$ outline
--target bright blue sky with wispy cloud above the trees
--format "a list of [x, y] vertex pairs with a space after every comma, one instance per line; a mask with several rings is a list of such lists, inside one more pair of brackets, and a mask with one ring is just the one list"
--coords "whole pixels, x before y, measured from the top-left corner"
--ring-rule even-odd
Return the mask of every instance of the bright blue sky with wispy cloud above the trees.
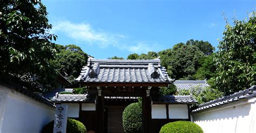
[[255, 0], [82, 1], [43, 0], [58, 35], [55, 43], [80, 46], [95, 58], [147, 53], [187, 40], [218, 46], [226, 17], [248, 17]]

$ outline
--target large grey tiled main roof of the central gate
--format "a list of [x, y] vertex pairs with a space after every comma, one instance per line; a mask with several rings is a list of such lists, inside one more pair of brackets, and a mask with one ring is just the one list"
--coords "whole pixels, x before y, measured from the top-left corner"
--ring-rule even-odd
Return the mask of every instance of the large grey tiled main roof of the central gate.
[[159, 59], [97, 60], [89, 58], [77, 82], [84, 83], [172, 83]]

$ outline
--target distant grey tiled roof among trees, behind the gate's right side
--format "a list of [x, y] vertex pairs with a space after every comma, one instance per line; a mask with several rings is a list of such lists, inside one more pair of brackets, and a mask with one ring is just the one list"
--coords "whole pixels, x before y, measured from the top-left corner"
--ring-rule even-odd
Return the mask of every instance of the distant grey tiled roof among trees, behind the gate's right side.
[[194, 87], [203, 88], [205, 86], [210, 86], [207, 84], [206, 80], [176, 80], [173, 84], [176, 85], [178, 89], [182, 90], [189, 90]]

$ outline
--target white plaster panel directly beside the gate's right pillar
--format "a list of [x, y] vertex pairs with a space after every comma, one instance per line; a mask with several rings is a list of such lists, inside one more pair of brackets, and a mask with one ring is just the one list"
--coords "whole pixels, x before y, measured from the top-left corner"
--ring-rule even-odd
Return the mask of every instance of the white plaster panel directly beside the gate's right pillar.
[[152, 119], [166, 119], [166, 106], [165, 105], [152, 105]]

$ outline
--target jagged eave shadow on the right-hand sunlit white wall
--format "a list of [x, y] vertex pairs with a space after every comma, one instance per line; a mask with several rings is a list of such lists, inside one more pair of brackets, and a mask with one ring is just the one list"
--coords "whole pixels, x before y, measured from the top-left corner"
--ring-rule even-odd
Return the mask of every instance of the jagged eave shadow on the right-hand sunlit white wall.
[[[206, 109], [198, 113], [193, 113], [194, 121], [213, 121], [213, 120], [231, 120], [238, 117], [245, 117], [250, 114], [251, 104], [242, 104], [235, 106], [228, 105], [214, 108], [214, 110]], [[217, 110], [215, 110], [217, 109]]]

